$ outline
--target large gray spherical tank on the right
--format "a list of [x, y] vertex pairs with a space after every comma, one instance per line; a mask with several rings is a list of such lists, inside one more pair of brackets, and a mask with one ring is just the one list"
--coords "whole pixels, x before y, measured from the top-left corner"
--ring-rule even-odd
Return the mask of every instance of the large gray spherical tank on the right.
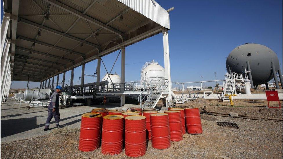
[[251, 66], [251, 74], [254, 85], [260, 85], [270, 81], [273, 78], [271, 70], [271, 59], [275, 65], [275, 72], [279, 70], [279, 60], [275, 52], [270, 48], [260, 44], [245, 44], [232, 50], [226, 60], [232, 72], [241, 73], [247, 70], [247, 61]]

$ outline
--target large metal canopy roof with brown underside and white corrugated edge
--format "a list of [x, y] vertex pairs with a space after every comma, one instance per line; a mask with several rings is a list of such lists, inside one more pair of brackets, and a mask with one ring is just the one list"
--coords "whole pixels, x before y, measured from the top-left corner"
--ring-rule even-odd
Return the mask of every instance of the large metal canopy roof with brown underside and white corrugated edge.
[[12, 78], [43, 81], [170, 29], [153, 0], [6, 0]]

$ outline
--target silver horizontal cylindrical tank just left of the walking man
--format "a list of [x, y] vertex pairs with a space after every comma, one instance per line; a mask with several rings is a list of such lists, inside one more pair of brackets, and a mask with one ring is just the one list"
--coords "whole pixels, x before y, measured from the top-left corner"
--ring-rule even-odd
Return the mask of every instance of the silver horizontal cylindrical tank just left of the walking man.
[[31, 101], [33, 99], [49, 99], [51, 89], [26, 89], [23, 93], [23, 100]]

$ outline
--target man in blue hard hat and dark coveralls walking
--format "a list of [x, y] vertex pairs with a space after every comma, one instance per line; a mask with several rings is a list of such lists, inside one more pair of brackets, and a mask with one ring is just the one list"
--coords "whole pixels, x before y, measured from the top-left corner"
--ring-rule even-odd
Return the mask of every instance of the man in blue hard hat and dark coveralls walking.
[[46, 120], [46, 124], [44, 127], [44, 131], [50, 130], [49, 125], [51, 119], [54, 117], [56, 122], [56, 127], [60, 127], [59, 120], [60, 120], [60, 113], [59, 113], [59, 93], [61, 92], [62, 87], [58, 85], [55, 88], [55, 92], [52, 93], [50, 96], [50, 103], [48, 105], [48, 117]]

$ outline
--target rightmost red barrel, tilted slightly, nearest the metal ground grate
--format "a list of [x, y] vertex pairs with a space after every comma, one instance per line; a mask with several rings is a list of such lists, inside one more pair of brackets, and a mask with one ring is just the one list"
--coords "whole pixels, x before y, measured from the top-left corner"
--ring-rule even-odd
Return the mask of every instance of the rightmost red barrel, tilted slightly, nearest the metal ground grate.
[[198, 108], [185, 108], [185, 118], [188, 134], [202, 134], [202, 122]]

